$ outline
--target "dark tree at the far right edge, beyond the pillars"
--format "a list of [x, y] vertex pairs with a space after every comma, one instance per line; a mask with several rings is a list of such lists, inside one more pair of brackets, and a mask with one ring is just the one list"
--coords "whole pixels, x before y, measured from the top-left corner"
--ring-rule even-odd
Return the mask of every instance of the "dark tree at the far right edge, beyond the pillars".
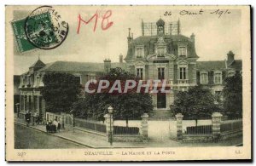
[[224, 80], [224, 113], [228, 117], [242, 117], [242, 79], [241, 74]]

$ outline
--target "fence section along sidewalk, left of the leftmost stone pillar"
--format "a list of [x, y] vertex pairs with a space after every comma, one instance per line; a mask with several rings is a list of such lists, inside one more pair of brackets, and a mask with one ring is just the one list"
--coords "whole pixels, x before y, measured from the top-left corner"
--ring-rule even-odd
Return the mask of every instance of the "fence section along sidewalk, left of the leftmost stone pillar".
[[75, 118], [75, 126], [79, 128], [89, 129], [100, 133], [106, 133], [106, 125], [97, 121]]

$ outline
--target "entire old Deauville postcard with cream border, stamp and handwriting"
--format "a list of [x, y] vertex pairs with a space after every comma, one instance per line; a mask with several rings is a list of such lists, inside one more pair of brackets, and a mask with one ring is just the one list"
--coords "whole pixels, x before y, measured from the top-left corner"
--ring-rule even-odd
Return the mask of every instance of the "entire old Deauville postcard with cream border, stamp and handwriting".
[[250, 6], [6, 6], [7, 161], [251, 159]]

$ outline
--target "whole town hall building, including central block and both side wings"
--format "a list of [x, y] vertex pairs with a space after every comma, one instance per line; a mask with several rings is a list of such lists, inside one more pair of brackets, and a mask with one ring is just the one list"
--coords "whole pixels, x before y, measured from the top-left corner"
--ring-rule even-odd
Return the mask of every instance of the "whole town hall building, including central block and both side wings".
[[[142, 21], [142, 36], [133, 38], [130, 32], [127, 37], [128, 51], [119, 62], [104, 60], [103, 63], [84, 63], [55, 61], [44, 64], [36, 61], [28, 72], [20, 75], [19, 112], [38, 112], [45, 116], [45, 105], [40, 87], [44, 86], [43, 77], [47, 72], [68, 72], [76, 76], [81, 84], [90, 79], [101, 77], [110, 68], [120, 67], [134, 73], [142, 80], [167, 80], [166, 86], [172, 89], [169, 94], [152, 94], [154, 117], [168, 117], [175, 95], [178, 91], [191, 86], [203, 84], [212, 89], [212, 94], [221, 96], [224, 78], [241, 73], [241, 60], [235, 60], [230, 51], [226, 60], [198, 61], [195, 50], [195, 35], [185, 37], [180, 31], [180, 21], [156, 23]], [[15, 103], [16, 104], [16, 103]]]

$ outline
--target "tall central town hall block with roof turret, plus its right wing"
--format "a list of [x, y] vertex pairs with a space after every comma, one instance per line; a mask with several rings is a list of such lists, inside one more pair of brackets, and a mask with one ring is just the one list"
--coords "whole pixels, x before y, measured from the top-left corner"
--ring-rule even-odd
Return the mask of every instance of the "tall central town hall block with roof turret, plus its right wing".
[[[144, 27], [145, 23], [142, 23]], [[195, 34], [185, 37], [180, 31], [180, 21], [177, 21], [177, 33], [166, 31], [164, 20], [155, 23], [153, 35], [133, 39], [131, 29], [127, 37], [128, 51], [125, 57], [131, 73], [143, 80], [167, 80], [170, 94], [153, 94], [154, 115], [170, 116], [175, 95], [196, 84], [203, 84], [212, 89], [212, 93], [222, 96], [224, 78], [241, 72], [241, 60], [235, 60], [231, 51], [227, 60], [198, 61], [195, 51]], [[152, 26], [152, 25], [151, 25]], [[145, 31], [145, 29], [142, 29]], [[159, 85], [161, 86], [161, 85]]]

